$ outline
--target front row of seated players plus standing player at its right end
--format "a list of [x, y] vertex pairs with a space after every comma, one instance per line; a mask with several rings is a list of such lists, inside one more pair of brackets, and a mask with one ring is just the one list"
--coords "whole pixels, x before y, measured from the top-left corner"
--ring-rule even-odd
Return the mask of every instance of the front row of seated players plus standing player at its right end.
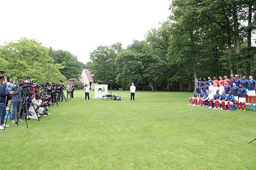
[[[237, 93], [238, 96], [234, 96], [232, 94], [232, 91], [228, 92], [228, 95], [225, 94], [225, 91], [222, 91], [222, 95], [219, 94], [219, 91], [216, 91], [216, 94], [213, 94], [211, 90], [208, 89], [206, 90], [206, 93], [201, 89], [200, 94], [194, 90], [194, 95], [193, 97], [189, 98], [189, 105], [192, 105], [193, 101], [193, 106], [203, 106], [203, 107], [208, 107], [212, 108], [213, 103], [214, 103], [214, 109], [221, 109], [225, 110], [226, 106], [228, 106], [228, 111], [230, 110], [230, 107], [233, 104], [237, 104], [237, 110], [242, 110], [242, 106], [244, 106], [244, 111], [246, 111], [246, 104], [245, 104], [245, 99], [246, 99], [246, 92], [247, 90], [243, 87], [242, 83], [240, 84], [240, 88], [238, 89]], [[197, 105], [197, 101], [199, 102]], [[239, 109], [240, 106], [240, 109]]]

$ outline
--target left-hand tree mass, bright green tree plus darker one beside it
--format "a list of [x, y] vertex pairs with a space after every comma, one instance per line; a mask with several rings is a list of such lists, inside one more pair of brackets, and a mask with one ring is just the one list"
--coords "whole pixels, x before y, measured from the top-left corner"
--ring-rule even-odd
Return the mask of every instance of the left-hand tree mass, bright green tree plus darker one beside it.
[[38, 82], [79, 78], [85, 65], [67, 51], [54, 51], [34, 39], [22, 38], [0, 46], [1, 70], [11, 78], [33, 76]]

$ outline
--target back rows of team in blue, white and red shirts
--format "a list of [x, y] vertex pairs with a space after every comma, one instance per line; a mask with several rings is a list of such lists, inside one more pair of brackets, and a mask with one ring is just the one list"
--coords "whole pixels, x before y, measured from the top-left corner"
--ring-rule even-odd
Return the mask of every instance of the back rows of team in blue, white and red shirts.
[[[233, 74], [231, 74], [232, 76]], [[225, 76], [226, 77], [226, 76]], [[219, 90], [219, 93], [222, 94], [222, 91], [225, 92], [225, 94], [228, 95], [229, 91], [232, 91], [232, 94], [234, 95], [235, 101], [238, 101], [238, 89], [240, 84], [243, 85], [243, 87], [247, 90], [246, 93], [246, 105], [251, 104], [252, 98], [253, 98], [253, 105], [255, 105], [256, 103], [256, 94], [255, 94], [255, 89], [256, 89], [256, 81], [253, 79], [253, 76], [249, 76], [249, 80], [246, 79], [246, 76], [243, 76], [243, 80], [239, 79], [238, 75], [235, 75], [236, 78], [234, 78], [235, 80], [231, 79], [227, 79], [225, 78], [223, 81], [221, 81], [221, 77], [218, 81], [219, 85], [217, 85], [217, 83], [214, 83], [214, 81], [210, 80], [211, 78], [209, 77], [208, 81], [204, 81], [204, 86], [202, 85], [202, 83], [195, 83], [195, 91], [197, 92], [197, 94], [200, 94], [201, 90], [203, 90], [204, 92], [206, 92], [206, 90], [208, 91], [212, 91], [212, 93], [215, 95], [216, 94], [216, 90]], [[216, 79], [214, 77], [214, 79]], [[237, 80], [238, 79], [238, 80]], [[197, 80], [197, 79], [196, 79]], [[196, 81], [197, 82], [197, 81]], [[232, 87], [229, 85], [229, 82], [232, 82]], [[213, 85], [214, 83], [214, 85]], [[223, 86], [223, 83], [225, 83], [225, 85]], [[248, 103], [249, 100], [249, 103]]]

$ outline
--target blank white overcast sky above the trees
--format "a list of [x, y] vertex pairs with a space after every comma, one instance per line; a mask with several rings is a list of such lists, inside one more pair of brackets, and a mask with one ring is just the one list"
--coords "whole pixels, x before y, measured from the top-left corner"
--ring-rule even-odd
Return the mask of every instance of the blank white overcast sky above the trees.
[[26, 37], [90, 61], [97, 46], [143, 40], [170, 15], [169, 0], [1, 0], [0, 45]]

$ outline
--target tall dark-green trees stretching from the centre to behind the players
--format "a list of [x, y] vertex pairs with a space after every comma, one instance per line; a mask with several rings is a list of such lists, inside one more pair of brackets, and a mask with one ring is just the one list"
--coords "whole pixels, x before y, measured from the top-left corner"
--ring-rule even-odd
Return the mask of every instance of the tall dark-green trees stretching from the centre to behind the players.
[[[100, 46], [89, 68], [98, 82], [141, 89], [192, 90], [194, 79], [256, 73], [255, 0], [172, 0], [171, 15], [145, 41]], [[114, 69], [116, 68], [116, 69]], [[104, 75], [106, 74], [106, 75]], [[256, 75], [254, 75], [256, 76]]]

